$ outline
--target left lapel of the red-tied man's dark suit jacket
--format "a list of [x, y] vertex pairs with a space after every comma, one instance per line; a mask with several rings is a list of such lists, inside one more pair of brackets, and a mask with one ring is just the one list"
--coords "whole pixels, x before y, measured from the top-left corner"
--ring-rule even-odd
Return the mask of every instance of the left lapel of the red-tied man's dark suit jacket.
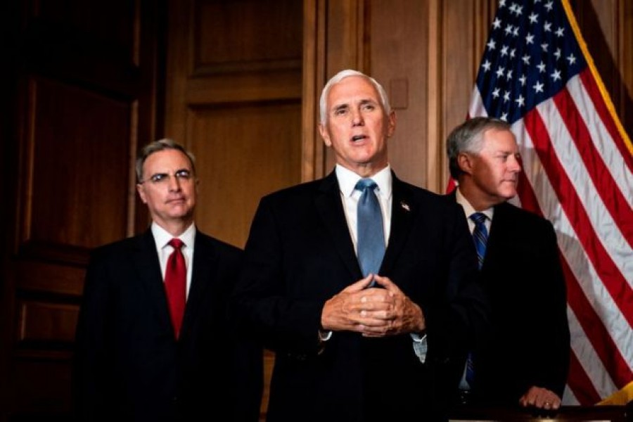
[[167, 295], [165, 285], [162, 282], [160, 273], [160, 262], [156, 253], [156, 244], [151, 230], [146, 231], [139, 238], [139, 242], [134, 250], [134, 266], [136, 273], [141, 280], [143, 289], [146, 290], [149, 302], [153, 304], [154, 310], [161, 325], [172, 329], [169, 310], [167, 307]]

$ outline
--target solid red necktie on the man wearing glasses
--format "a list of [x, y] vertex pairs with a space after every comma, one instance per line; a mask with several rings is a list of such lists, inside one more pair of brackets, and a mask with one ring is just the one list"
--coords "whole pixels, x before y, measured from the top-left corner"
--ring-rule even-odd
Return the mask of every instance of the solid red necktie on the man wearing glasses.
[[187, 267], [180, 250], [184, 243], [180, 239], [173, 238], [169, 245], [174, 248], [174, 252], [167, 260], [167, 268], [165, 268], [165, 290], [167, 291], [174, 332], [178, 338], [186, 302]]

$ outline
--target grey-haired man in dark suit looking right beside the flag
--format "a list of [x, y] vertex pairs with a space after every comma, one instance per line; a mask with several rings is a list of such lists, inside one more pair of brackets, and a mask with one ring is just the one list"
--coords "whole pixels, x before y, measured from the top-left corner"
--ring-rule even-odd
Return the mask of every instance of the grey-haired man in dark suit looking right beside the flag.
[[[492, 308], [491, 331], [473, 352], [473, 404], [558, 409], [568, 375], [570, 333], [565, 280], [552, 224], [507, 200], [521, 170], [509, 124], [475, 117], [447, 142], [458, 182], [450, 195], [471, 215], [483, 215], [489, 235], [480, 281]], [[462, 380], [465, 381], [465, 380]]]

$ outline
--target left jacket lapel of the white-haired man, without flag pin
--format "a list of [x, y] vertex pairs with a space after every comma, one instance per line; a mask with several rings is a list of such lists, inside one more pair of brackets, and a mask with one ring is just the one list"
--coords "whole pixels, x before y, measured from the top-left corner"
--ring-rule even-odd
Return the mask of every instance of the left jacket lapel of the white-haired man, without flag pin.
[[343, 260], [345, 267], [350, 271], [354, 280], [361, 279], [362, 273], [354, 253], [354, 244], [347, 227], [343, 203], [340, 200], [340, 188], [334, 172], [321, 181], [319, 193], [314, 199], [316, 212], [330, 234], [335, 249]]

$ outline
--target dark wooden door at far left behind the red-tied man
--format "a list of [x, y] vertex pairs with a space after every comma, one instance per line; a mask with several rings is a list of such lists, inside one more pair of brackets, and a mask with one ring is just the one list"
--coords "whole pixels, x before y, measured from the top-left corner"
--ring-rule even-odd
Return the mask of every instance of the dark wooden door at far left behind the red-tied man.
[[4, 3], [0, 421], [61, 420], [89, 250], [146, 225], [132, 162], [155, 138], [160, 2]]

